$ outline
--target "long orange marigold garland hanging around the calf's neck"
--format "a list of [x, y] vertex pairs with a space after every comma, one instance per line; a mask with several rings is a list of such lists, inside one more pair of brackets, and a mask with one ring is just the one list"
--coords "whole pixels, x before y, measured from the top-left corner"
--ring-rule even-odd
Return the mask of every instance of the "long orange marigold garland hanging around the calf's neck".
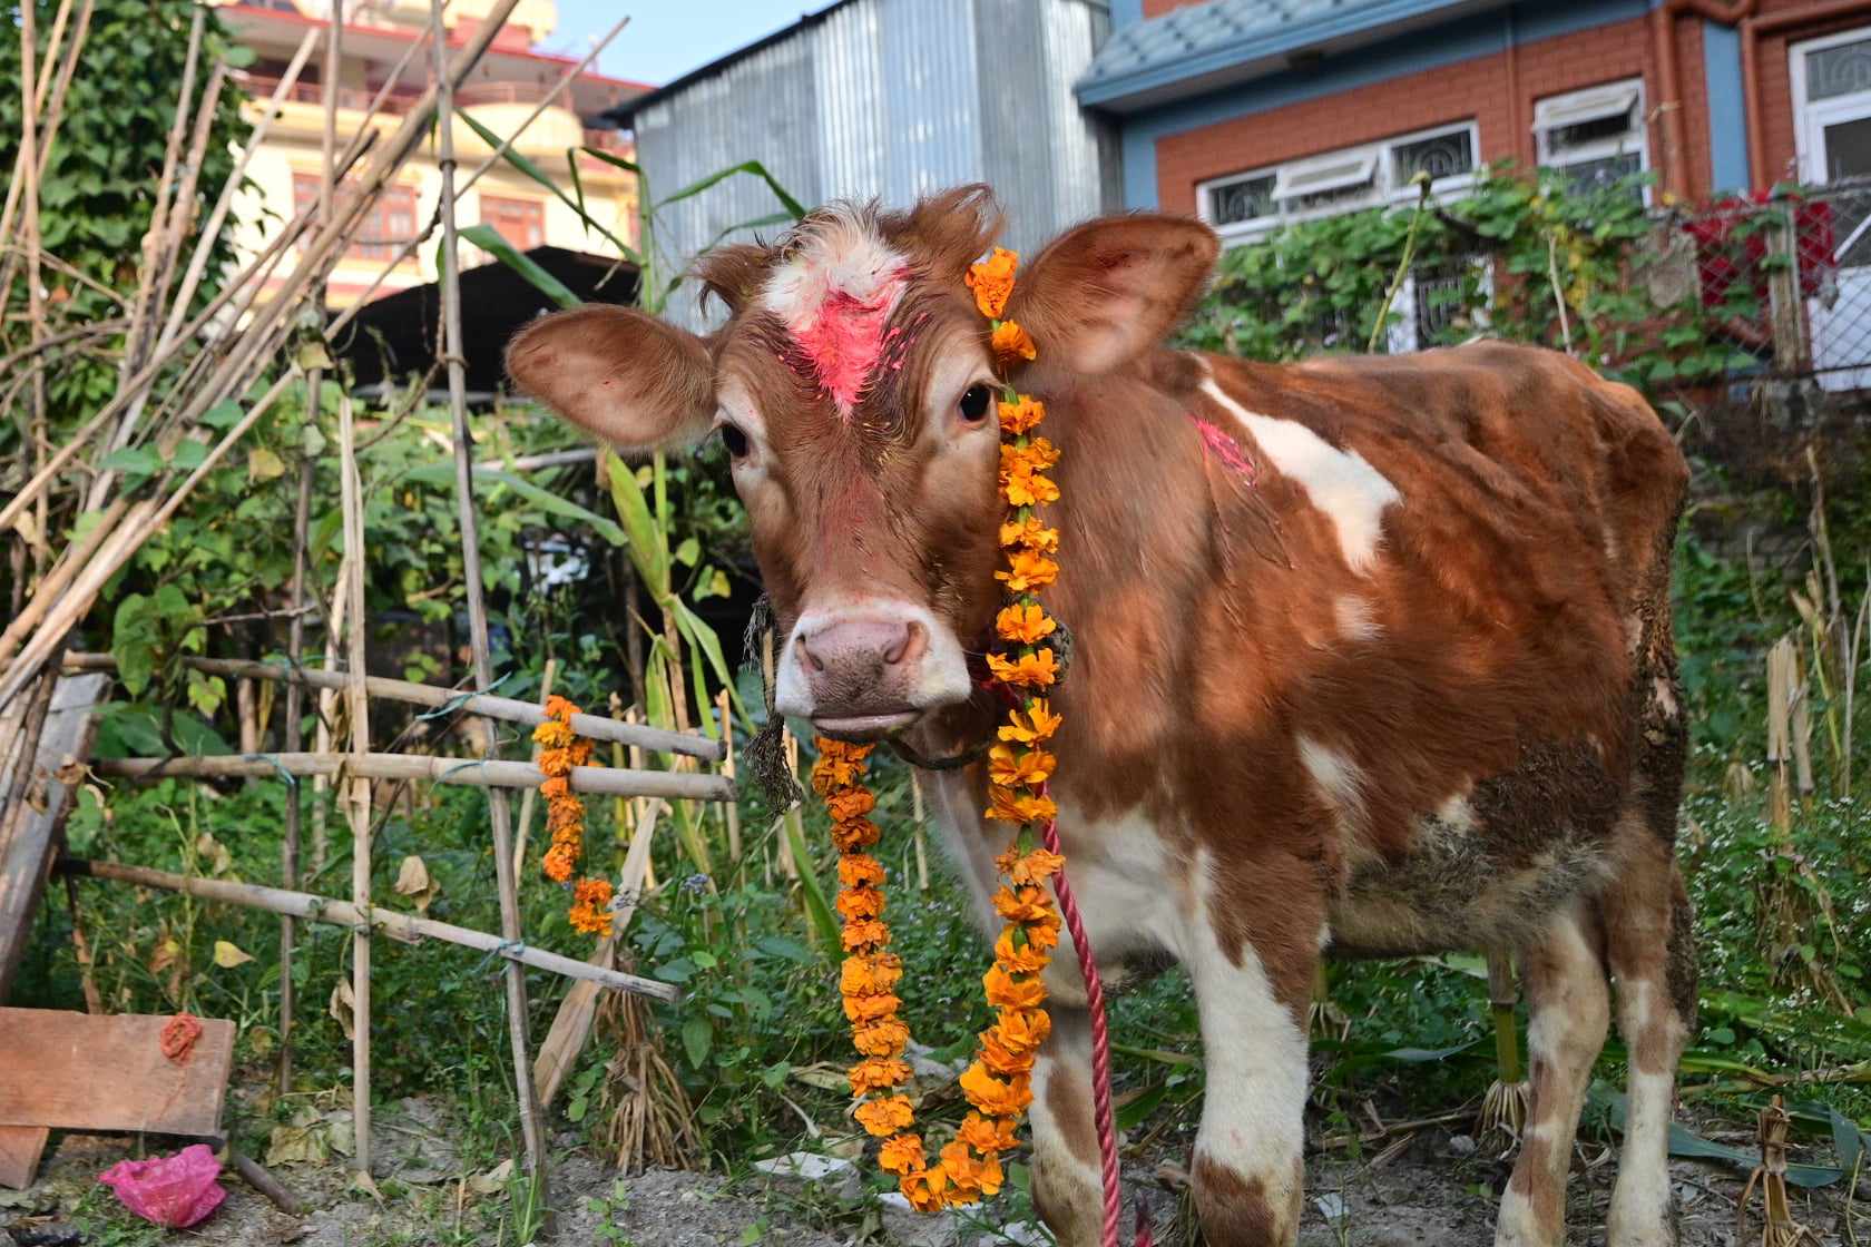
[[[990, 342], [1001, 363], [1038, 353], [1025, 329], [1001, 320], [1018, 262], [1020, 256], [995, 247], [967, 273], [975, 305], [992, 322]], [[1001, 499], [1007, 520], [1001, 546], [1007, 566], [995, 580], [1005, 585], [1007, 604], [995, 617], [1001, 652], [988, 654], [988, 667], [1016, 705], [988, 752], [992, 804], [986, 817], [1014, 823], [1018, 830], [1014, 843], [995, 858], [1003, 886], [994, 894], [994, 909], [1007, 925], [994, 944], [994, 968], [982, 978], [988, 1004], [999, 1015], [980, 1032], [979, 1056], [962, 1073], [962, 1094], [975, 1111], [936, 1159], [913, 1131], [915, 1112], [900, 1090], [909, 1082], [904, 1060], [909, 1026], [896, 1015], [902, 998], [894, 991], [904, 963], [889, 950], [891, 929], [883, 924], [883, 866], [866, 853], [877, 843], [877, 824], [868, 819], [877, 802], [864, 787], [864, 759], [874, 746], [819, 737], [819, 759], [812, 767], [812, 789], [831, 810], [833, 843], [840, 854], [838, 914], [848, 955], [838, 987], [863, 1056], [851, 1068], [853, 1114], [870, 1135], [883, 1139], [877, 1165], [898, 1176], [904, 1197], [919, 1211], [973, 1204], [1001, 1189], [1001, 1154], [1014, 1146], [1014, 1129], [1033, 1103], [1033, 1058], [1052, 1030], [1040, 972], [1059, 946], [1059, 910], [1046, 881], [1059, 873], [1065, 858], [1035, 843], [1038, 824], [1055, 813], [1046, 781], [1057, 759], [1046, 746], [1061, 722], [1042, 695], [1061, 673], [1057, 654], [1046, 645], [1059, 624], [1037, 598], [1037, 591], [1059, 576], [1052, 557], [1059, 533], [1035, 512], [1059, 501], [1059, 486], [1044, 475], [1059, 462], [1059, 451], [1033, 436], [1044, 419], [1044, 404], [1003, 387]]]

